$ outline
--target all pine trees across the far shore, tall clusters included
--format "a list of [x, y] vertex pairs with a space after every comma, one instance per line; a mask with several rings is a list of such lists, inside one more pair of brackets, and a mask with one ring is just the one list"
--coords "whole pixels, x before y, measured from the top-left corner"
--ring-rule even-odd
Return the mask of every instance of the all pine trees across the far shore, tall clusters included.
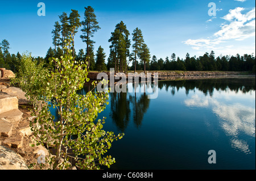
[[[46, 57], [35, 57], [38, 62], [44, 61], [46, 67], [52, 69], [49, 65], [49, 58], [60, 58], [65, 53], [64, 47], [67, 40], [72, 37], [69, 48], [72, 49], [73, 58], [76, 61], [87, 62], [89, 70], [109, 70], [114, 68], [115, 72], [125, 72], [128, 70], [136, 72], [137, 70], [187, 70], [187, 71], [252, 71], [255, 73], [255, 57], [253, 54], [244, 54], [240, 56], [218, 56], [215, 57], [214, 52], [205, 53], [203, 56], [191, 57], [186, 54], [185, 59], [176, 57], [175, 53], [171, 57], [156, 58], [150, 55], [150, 49], [144, 43], [142, 31], [137, 27], [132, 33], [132, 41], [130, 40], [130, 32], [127, 30], [126, 24], [122, 21], [115, 26], [114, 31], [110, 35], [110, 53], [106, 62], [106, 54], [100, 46], [96, 54], [94, 54], [94, 43], [92, 40], [94, 33], [100, 30], [94, 9], [90, 6], [85, 7], [84, 20], [80, 21], [80, 15], [77, 10], [71, 10], [68, 15], [63, 12], [59, 15], [59, 21], [55, 22], [52, 30], [52, 44], [47, 50]], [[86, 44], [84, 49], [75, 50], [75, 35], [81, 27], [82, 35], [80, 38]], [[10, 54], [10, 44], [7, 40], [2, 40], [0, 44], [0, 66], [3, 68], [16, 71], [21, 57], [19, 52]], [[131, 52], [130, 52], [131, 47]]]

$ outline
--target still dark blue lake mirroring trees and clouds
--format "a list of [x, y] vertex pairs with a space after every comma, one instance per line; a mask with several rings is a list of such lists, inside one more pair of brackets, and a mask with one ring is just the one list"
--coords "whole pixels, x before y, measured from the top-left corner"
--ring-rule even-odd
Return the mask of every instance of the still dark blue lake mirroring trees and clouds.
[[255, 77], [159, 81], [156, 99], [135, 87], [110, 93], [98, 115], [105, 131], [125, 133], [111, 169], [255, 169]]

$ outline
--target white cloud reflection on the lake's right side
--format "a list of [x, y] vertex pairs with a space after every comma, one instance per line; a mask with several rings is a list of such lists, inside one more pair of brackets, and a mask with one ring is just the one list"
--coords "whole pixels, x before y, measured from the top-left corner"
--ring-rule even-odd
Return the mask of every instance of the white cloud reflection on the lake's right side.
[[[243, 135], [255, 138], [255, 107], [247, 106], [246, 102], [245, 104], [236, 102], [231, 102], [230, 104], [229, 96], [232, 96], [233, 92], [240, 96], [243, 96], [246, 91], [252, 91], [251, 93], [255, 94], [255, 87], [252, 87], [252, 89], [254, 91], [245, 90], [245, 86], [242, 86], [241, 89], [233, 90], [227, 88], [225, 89], [227, 92], [222, 92], [220, 97], [218, 95], [200, 97], [196, 94], [192, 95], [190, 99], [184, 100], [184, 103], [188, 107], [210, 108], [219, 118], [220, 127], [230, 138], [232, 148], [249, 154], [251, 153], [249, 149], [250, 143], [243, 139]], [[225, 102], [224, 97], [229, 101]]]

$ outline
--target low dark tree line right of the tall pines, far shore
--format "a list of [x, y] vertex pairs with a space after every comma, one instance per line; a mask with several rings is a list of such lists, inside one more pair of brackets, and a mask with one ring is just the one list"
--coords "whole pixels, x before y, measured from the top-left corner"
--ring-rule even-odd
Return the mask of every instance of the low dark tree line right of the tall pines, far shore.
[[[129, 70], [134, 69], [133, 65]], [[137, 70], [143, 70], [143, 62], [137, 61]], [[212, 51], [210, 54], [205, 53], [203, 56], [196, 58], [190, 57], [187, 53], [185, 59], [176, 58], [175, 53], [171, 54], [171, 58], [156, 58], [153, 56], [150, 62], [146, 63], [147, 70], [184, 70], [184, 71], [251, 71], [255, 73], [255, 57], [253, 54], [244, 54], [240, 56], [214, 56]]]

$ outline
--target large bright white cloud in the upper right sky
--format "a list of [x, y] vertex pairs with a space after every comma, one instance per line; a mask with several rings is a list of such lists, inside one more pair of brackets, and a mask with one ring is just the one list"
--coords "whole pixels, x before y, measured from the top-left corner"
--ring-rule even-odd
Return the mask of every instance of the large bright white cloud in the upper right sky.
[[[242, 14], [244, 10], [243, 7], [229, 10], [229, 13], [222, 17], [226, 22], [221, 24], [220, 30], [215, 32], [212, 37], [196, 40], [188, 39], [183, 43], [190, 45], [195, 50], [216, 49], [216, 45], [221, 43], [231, 40], [241, 41], [255, 36], [255, 7], [246, 14]], [[207, 22], [212, 22], [212, 19], [207, 20]], [[255, 49], [255, 45], [253, 49]]]

